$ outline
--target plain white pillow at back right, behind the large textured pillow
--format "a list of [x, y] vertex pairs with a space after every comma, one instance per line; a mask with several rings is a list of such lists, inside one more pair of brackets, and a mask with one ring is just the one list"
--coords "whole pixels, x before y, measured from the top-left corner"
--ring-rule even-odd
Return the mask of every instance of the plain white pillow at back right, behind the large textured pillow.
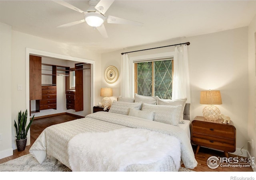
[[177, 99], [177, 100], [165, 100], [165, 99], [161, 99], [158, 96], [156, 96], [156, 102], [157, 105], [166, 105], [166, 106], [178, 106], [178, 105], [182, 105], [182, 112], [180, 114], [180, 121], [179, 123], [183, 123], [183, 112], [184, 112], [184, 108], [187, 102], [187, 98], [184, 99]]

